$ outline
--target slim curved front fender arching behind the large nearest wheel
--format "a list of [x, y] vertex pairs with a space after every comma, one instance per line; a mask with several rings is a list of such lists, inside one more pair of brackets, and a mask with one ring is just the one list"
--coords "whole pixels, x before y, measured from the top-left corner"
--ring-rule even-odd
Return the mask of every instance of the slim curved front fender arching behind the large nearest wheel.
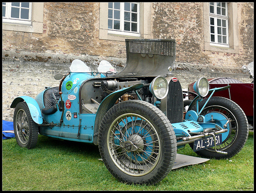
[[99, 125], [101, 123], [101, 120], [103, 116], [108, 112], [112, 106], [115, 104], [117, 99], [122, 96], [124, 93], [127, 93], [129, 91], [135, 91], [138, 89], [141, 89], [143, 87], [142, 83], [138, 83], [133, 85], [132, 87], [123, 88], [121, 90], [115, 91], [114, 93], [111, 93], [109, 96], [104, 98], [104, 100], [100, 103], [99, 108], [96, 113], [95, 117], [95, 124], [94, 124], [94, 135], [93, 135], [93, 143], [95, 145], [98, 145], [98, 131], [99, 131]]

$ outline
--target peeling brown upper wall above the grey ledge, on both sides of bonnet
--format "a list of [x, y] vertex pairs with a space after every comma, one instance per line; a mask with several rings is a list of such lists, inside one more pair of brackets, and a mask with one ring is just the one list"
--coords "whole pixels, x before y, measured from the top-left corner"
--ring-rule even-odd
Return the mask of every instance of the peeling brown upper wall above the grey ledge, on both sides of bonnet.
[[[253, 60], [253, 6], [238, 3], [239, 54], [204, 50], [203, 3], [199, 2], [152, 3], [152, 38], [176, 39], [177, 63], [241, 67]], [[124, 42], [99, 39], [99, 3], [44, 3], [43, 28], [42, 34], [3, 30], [4, 55], [38, 53], [38, 58], [27, 55], [27, 61], [51, 61], [40, 56], [47, 53], [126, 57]]]

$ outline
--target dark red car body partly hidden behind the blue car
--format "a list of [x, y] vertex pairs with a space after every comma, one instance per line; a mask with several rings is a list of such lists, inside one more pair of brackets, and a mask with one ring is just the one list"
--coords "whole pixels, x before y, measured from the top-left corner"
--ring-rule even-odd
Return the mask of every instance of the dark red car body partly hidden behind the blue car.
[[[244, 111], [249, 123], [253, 122], [253, 83], [243, 83], [233, 78], [211, 78], [209, 81], [209, 89], [225, 87], [231, 85], [229, 89], [216, 92], [213, 96], [228, 98], [236, 102]], [[188, 85], [188, 91], [195, 92], [193, 85], [195, 82]], [[193, 100], [195, 96], [189, 95], [188, 99]]]

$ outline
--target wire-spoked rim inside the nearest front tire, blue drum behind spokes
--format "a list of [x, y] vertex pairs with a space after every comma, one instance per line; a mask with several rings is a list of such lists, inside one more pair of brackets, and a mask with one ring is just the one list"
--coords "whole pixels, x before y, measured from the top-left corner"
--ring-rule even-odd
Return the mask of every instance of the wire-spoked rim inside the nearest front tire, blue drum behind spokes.
[[119, 116], [110, 127], [107, 144], [113, 162], [131, 176], [150, 173], [159, 160], [156, 129], [137, 114]]

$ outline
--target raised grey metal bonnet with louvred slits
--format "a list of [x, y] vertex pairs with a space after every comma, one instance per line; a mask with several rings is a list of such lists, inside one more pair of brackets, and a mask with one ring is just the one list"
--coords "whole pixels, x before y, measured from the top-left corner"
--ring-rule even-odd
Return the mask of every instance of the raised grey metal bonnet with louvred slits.
[[126, 65], [113, 75], [165, 76], [175, 62], [174, 39], [125, 39]]

